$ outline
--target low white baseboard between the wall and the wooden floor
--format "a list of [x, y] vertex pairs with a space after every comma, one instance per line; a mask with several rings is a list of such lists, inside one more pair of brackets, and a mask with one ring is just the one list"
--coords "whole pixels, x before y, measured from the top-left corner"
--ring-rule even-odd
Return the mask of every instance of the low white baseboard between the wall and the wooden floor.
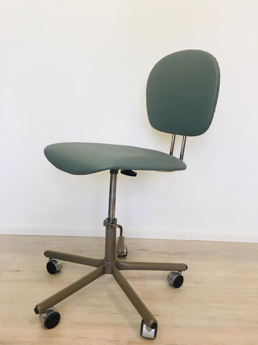
[[[43, 227], [3, 227], [3, 226], [0, 226], [0, 234], [104, 237], [105, 228], [81, 229], [81, 228], [43, 228]], [[248, 233], [239, 234], [239, 233], [197, 232], [197, 231], [124, 230], [124, 236], [127, 238], [258, 243], [258, 234], [248, 234]]]

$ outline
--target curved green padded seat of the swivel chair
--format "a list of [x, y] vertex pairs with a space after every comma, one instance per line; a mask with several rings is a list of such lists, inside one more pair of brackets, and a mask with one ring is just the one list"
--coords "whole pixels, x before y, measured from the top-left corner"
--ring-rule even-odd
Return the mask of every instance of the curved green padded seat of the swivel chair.
[[58, 143], [45, 148], [48, 161], [73, 175], [102, 170], [184, 170], [180, 159], [167, 153], [133, 146], [99, 143]]

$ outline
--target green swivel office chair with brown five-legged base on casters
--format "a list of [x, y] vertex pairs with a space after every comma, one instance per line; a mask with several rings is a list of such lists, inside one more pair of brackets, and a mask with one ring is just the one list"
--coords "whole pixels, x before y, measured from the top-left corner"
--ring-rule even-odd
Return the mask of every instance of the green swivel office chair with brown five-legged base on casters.
[[[61, 260], [96, 267], [85, 277], [46, 298], [34, 308], [40, 320], [48, 328], [60, 321], [60, 313], [54, 307], [104, 274], [112, 274], [123, 292], [142, 317], [140, 335], [154, 339], [157, 320], [121, 274], [122, 270], [171, 271], [167, 281], [179, 288], [183, 283], [185, 263], [146, 263], [122, 260], [127, 247], [121, 225], [115, 217], [116, 182], [118, 171], [136, 176], [134, 170], [176, 171], [186, 168], [183, 160], [186, 136], [197, 136], [211, 125], [215, 111], [220, 82], [216, 59], [202, 50], [183, 50], [165, 56], [153, 68], [147, 82], [147, 113], [150, 124], [158, 131], [172, 134], [170, 153], [133, 146], [96, 143], [58, 143], [45, 148], [48, 161], [56, 168], [74, 175], [87, 175], [98, 171], [110, 171], [108, 216], [104, 220], [106, 244], [104, 259], [65, 254], [46, 250], [46, 265], [51, 274], [62, 268]], [[173, 156], [175, 135], [182, 135], [180, 158]], [[116, 240], [117, 229], [120, 236]], [[121, 260], [119, 260], [121, 259]]]

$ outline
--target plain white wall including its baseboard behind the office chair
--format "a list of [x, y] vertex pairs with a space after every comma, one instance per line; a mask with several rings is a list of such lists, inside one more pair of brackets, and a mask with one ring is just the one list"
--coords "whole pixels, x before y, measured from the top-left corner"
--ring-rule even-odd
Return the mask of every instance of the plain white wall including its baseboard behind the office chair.
[[146, 115], [149, 72], [203, 49], [221, 68], [210, 130], [188, 138], [184, 172], [120, 174], [116, 215], [125, 236], [258, 242], [257, 11], [256, 0], [2, 0], [0, 232], [104, 235], [109, 172], [65, 174], [44, 147], [168, 152]]

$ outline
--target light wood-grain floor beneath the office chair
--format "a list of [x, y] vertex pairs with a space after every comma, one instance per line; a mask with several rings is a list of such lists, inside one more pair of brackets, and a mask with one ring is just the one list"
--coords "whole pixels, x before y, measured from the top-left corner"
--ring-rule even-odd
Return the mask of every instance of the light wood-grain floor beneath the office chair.
[[103, 238], [0, 235], [0, 344], [258, 344], [258, 244], [127, 239], [126, 245], [123, 260], [188, 265], [179, 289], [167, 283], [167, 272], [122, 272], [158, 320], [154, 341], [140, 337], [141, 318], [111, 275], [59, 303], [54, 329], [44, 329], [33, 312], [92, 270], [63, 263], [50, 275], [44, 251], [103, 258]]

